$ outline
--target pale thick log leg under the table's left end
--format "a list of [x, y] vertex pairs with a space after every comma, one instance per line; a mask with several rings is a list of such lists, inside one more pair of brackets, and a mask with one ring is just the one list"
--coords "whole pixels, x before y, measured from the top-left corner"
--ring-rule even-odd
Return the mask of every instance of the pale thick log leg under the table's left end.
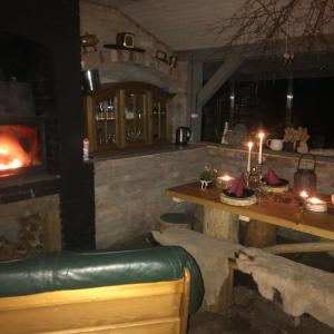
[[204, 207], [203, 233], [217, 239], [239, 240], [239, 218], [222, 209]]

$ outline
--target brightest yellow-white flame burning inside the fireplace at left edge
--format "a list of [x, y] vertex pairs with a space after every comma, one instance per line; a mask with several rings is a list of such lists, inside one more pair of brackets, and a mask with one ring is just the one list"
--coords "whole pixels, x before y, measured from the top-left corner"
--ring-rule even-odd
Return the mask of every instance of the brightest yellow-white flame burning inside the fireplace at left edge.
[[30, 156], [14, 136], [0, 136], [0, 170], [16, 169], [30, 164]]

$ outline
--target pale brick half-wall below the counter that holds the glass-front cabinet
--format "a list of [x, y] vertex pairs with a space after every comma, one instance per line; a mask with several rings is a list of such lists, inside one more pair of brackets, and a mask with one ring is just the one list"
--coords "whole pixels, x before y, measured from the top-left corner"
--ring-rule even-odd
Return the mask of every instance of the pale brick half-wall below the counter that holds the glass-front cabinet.
[[166, 212], [193, 213], [165, 189], [198, 179], [205, 148], [189, 148], [95, 163], [97, 248], [131, 239], [157, 226]]

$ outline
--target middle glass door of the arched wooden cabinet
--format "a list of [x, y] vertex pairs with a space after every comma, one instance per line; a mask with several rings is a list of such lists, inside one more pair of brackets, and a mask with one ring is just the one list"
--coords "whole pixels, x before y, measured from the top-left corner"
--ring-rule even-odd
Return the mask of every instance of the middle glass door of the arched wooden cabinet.
[[126, 144], [144, 143], [145, 95], [126, 92], [125, 96], [125, 138]]

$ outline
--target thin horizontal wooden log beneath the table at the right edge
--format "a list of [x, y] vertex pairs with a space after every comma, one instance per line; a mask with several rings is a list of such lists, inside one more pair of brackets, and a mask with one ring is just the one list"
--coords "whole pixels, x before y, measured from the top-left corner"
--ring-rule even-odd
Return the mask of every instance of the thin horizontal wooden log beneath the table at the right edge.
[[298, 243], [298, 244], [282, 244], [271, 247], [264, 247], [263, 250], [271, 254], [286, 253], [313, 253], [313, 252], [333, 252], [334, 243]]

